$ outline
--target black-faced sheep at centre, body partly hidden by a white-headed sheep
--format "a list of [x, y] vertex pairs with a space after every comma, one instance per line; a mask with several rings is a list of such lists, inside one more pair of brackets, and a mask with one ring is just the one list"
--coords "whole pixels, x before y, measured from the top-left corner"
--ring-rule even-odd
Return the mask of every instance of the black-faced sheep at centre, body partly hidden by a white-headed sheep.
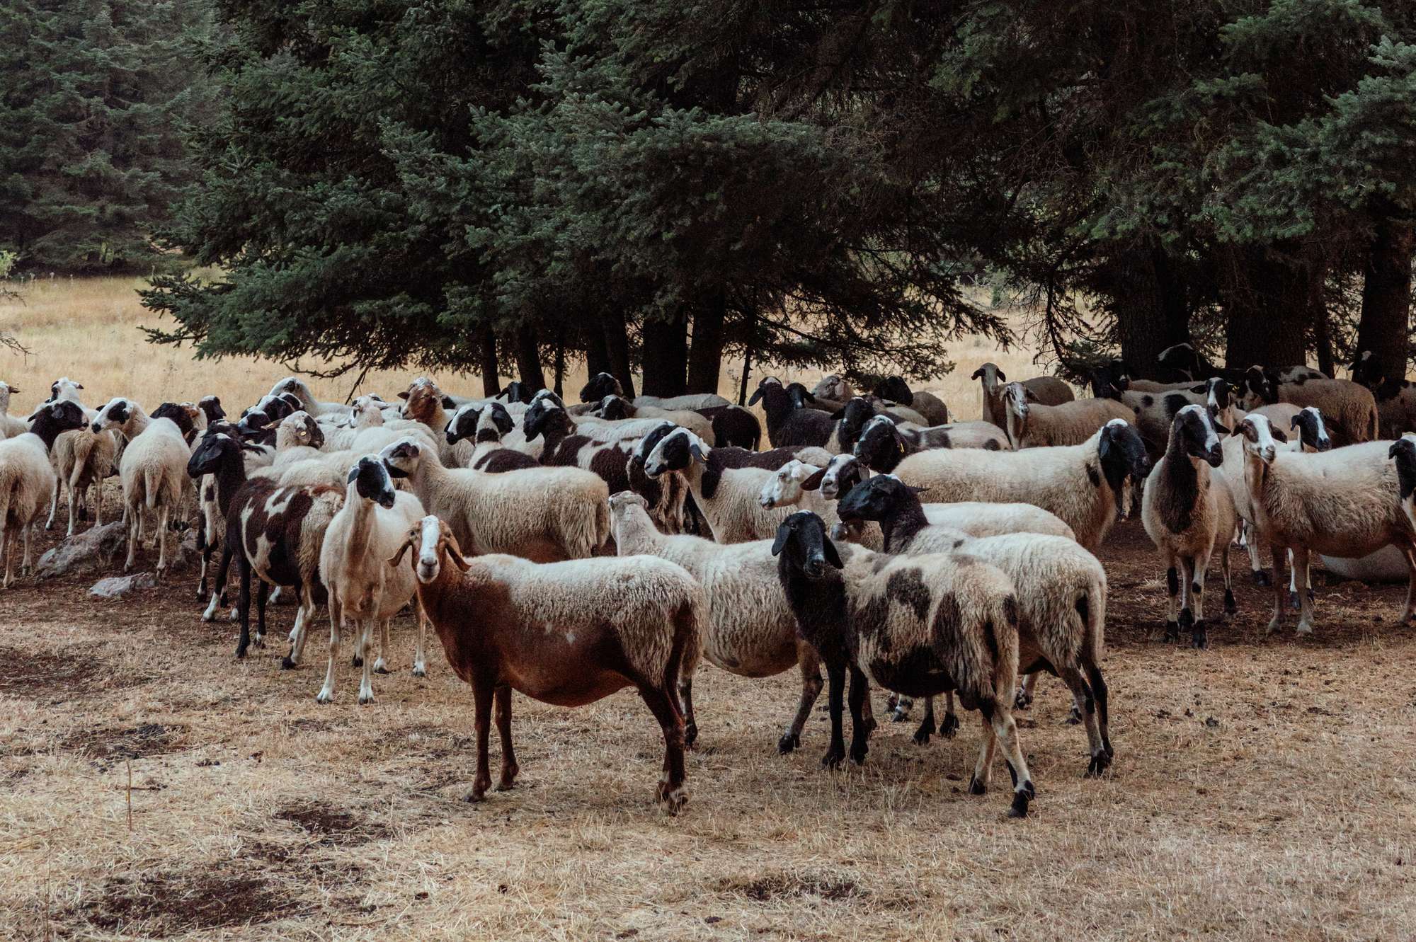
[[674, 429], [644, 460], [644, 474], [658, 478], [670, 471], [681, 472], [712, 537], [719, 543], [745, 543], [767, 539], [787, 516], [787, 511], [762, 506], [760, 494], [776, 468], [792, 458], [821, 465], [831, 455], [821, 448], [776, 448], [758, 454], [709, 448], [687, 429]]

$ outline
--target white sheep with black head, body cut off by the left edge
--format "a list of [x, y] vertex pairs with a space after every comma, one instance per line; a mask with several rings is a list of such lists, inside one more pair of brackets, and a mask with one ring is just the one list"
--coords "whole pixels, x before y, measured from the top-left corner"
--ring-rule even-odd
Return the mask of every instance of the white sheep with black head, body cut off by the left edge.
[[0, 440], [0, 554], [4, 554], [4, 583], [14, 581], [14, 556], [24, 540], [20, 574], [30, 571], [30, 536], [44, 513], [44, 498], [54, 488], [50, 448], [61, 433], [86, 421], [76, 402], [57, 400], [38, 410], [30, 427]]

